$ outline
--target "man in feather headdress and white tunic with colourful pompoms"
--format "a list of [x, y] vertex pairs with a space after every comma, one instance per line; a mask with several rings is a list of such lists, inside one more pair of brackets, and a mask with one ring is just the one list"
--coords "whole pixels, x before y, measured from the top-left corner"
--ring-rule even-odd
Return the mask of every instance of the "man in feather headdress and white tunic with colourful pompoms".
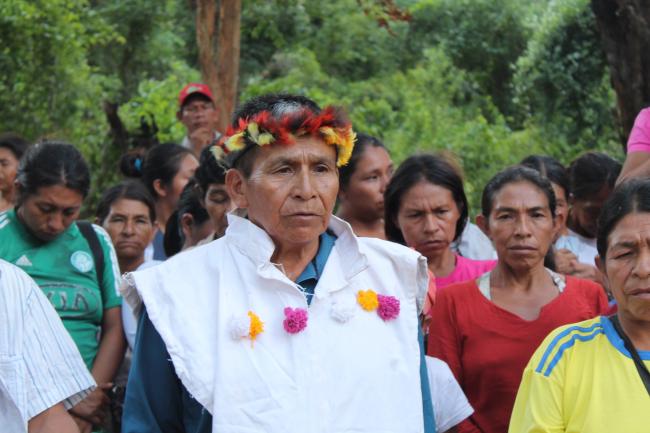
[[225, 236], [125, 277], [125, 433], [435, 431], [425, 259], [332, 216], [354, 139], [342, 110], [300, 96], [235, 113]]

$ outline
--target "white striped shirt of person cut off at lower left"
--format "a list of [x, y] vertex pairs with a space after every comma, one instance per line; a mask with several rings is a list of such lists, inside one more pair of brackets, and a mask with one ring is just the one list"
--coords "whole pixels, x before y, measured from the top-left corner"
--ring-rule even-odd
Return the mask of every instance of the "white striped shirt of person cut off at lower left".
[[[95, 381], [59, 316], [36, 283], [0, 260], [0, 402], [12, 401], [27, 421], [63, 402], [69, 409]], [[12, 411], [0, 408], [0, 426]], [[13, 411], [15, 414], [15, 411]]]

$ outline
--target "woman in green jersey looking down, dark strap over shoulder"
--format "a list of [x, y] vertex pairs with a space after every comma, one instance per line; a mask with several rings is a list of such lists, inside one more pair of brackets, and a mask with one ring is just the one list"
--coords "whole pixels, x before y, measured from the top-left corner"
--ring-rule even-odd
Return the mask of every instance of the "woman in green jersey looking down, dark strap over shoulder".
[[47, 295], [99, 385], [70, 410], [81, 430], [90, 431], [104, 420], [126, 346], [115, 251], [104, 229], [76, 221], [90, 172], [74, 146], [32, 146], [16, 183], [16, 208], [0, 217], [0, 257]]

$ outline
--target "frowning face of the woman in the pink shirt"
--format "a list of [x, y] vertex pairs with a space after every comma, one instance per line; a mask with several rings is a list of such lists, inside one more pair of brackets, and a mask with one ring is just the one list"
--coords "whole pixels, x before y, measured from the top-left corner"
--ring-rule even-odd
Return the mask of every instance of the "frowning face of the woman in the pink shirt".
[[451, 191], [423, 180], [402, 197], [397, 226], [409, 247], [432, 259], [449, 249], [459, 218]]

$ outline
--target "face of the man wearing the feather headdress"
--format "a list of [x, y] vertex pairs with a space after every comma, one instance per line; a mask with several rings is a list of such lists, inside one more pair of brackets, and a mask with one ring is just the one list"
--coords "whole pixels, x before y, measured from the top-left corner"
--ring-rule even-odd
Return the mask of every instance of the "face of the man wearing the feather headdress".
[[305, 245], [327, 229], [339, 188], [336, 149], [314, 137], [258, 149], [248, 179], [231, 170], [237, 207], [279, 245]]

